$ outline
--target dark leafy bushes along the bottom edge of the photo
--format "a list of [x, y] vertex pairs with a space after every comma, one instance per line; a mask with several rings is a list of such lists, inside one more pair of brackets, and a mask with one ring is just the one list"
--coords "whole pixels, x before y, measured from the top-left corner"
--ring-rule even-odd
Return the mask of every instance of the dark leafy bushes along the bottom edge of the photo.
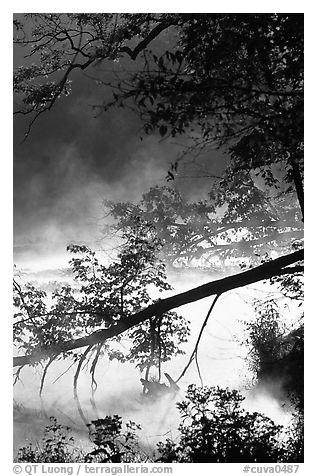
[[[268, 463], [303, 461], [303, 425], [297, 419], [290, 428], [276, 425], [261, 413], [242, 407], [244, 398], [236, 390], [219, 387], [188, 387], [177, 407], [182, 417], [179, 435], [157, 445], [158, 454], [142, 450], [136, 434], [140, 426], [128, 422], [122, 428], [118, 415], [95, 420], [88, 426], [94, 444], [87, 454], [71, 453], [65, 435], [53, 419], [45, 432], [43, 446], [21, 448], [19, 462], [153, 462], [163, 463]], [[52, 428], [53, 436], [49, 437]]]

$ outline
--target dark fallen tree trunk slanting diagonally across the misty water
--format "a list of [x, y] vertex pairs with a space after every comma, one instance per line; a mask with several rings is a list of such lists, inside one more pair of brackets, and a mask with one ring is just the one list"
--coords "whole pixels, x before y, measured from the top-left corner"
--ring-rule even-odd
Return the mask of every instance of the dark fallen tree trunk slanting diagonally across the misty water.
[[136, 314], [133, 314], [132, 316], [129, 316], [125, 319], [120, 319], [117, 324], [108, 329], [96, 331], [85, 337], [56, 344], [49, 350], [37, 349], [31, 354], [14, 357], [13, 366], [32, 365], [40, 362], [41, 360], [47, 359], [52, 355], [56, 356], [62, 352], [102, 343], [107, 339], [122, 334], [123, 332], [131, 329], [137, 324], [142, 323], [150, 317], [163, 314], [190, 302], [199, 301], [200, 299], [208, 296], [222, 294], [226, 291], [247, 286], [248, 284], [269, 279], [280, 274], [301, 271], [303, 269], [302, 267], [295, 266], [287, 268], [287, 266], [297, 263], [298, 261], [303, 260], [303, 258], [304, 250], [295, 251], [294, 253], [281, 256], [272, 261], [268, 261], [267, 263], [264, 263], [248, 271], [234, 274], [233, 276], [228, 276], [216, 281], [211, 281], [207, 284], [203, 284], [202, 286], [190, 289], [189, 291], [159, 300], [155, 304], [152, 304], [151, 306], [137, 312]]

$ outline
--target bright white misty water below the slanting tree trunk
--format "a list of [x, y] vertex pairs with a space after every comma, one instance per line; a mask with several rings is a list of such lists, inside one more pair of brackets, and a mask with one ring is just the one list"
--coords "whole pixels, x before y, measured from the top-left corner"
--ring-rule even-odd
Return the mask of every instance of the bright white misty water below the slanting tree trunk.
[[[53, 265], [51, 258], [51, 264]], [[58, 261], [56, 262], [58, 263]], [[34, 266], [37, 269], [37, 266]], [[47, 276], [51, 271], [47, 272]], [[30, 275], [34, 276], [34, 275]], [[46, 276], [46, 281], [48, 277]], [[174, 287], [167, 295], [183, 292], [212, 280], [211, 275], [197, 271], [175, 272], [170, 274]], [[44, 283], [45, 281], [42, 281]], [[253, 375], [248, 369], [246, 354], [248, 349], [241, 345], [245, 337], [243, 321], [252, 318], [252, 299], [265, 296], [267, 286], [253, 285], [224, 294], [218, 300], [209, 322], [204, 330], [199, 345], [198, 360], [204, 385], [219, 385], [235, 388], [246, 397], [244, 407], [249, 411], [260, 411], [277, 423], [287, 424], [291, 413], [282, 407], [278, 398], [265, 389], [252, 388]], [[209, 297], [182, 306], [177, 312], [190, 321], [191, 335], [183, 346], [184, 355], [162, 364], [162, 375], [168, 372], [177, 379], [188, 362], [194, 348], [201, 325], [205, 319], [213, 297]], [[286, 312], [286, 320], [291, 325], [293, 312]], [[123, 340], [123, 345], [128, 345]], [[48, 424], [48, 417], [55, 416], [59, 423], [72, 428], [76, 440], [87, 448], [89, 445], [85, 425], [81, 420], [73, 397], [73, 378], [76, 366], [70, 361], [55, 362], [48, 370], [42, 397], [39, 395], [43, 368], [24, 368], [21, 380], [15, 385], [14, 414], [14, 450], [28, 441], [38, 441], [43, 435], [43, 428]], [[106, 415], [119, 414], [123, 422], [133, 420], [142, 427], [142, 442], [148, 451], [158, 441], [176, 435], [180, 423], [179, 412], [175, 407], [177, 401], [185, 396], [187, 386], [191, 383], [200, 385], [197, 367], [193, 362], [186, 374], [179, 381], [180, 392], [175, 398], [166, 396], [151, 401], [142, 396], [140, 377], [143, 376], [132, 364], [100, 359], [96, 369], [97, 391], [94, 395], [96, 408], [91, 403], [91, 376], [89, 366], [83, 370], [78, 380], [78, 396], [81, 407], [88, 421]], [[162, 379], [164, 381], [164, 378]], [[276, 389], [275, 396], [279, 396]], [[96, 411], [97, 410], [97, 411]]]

